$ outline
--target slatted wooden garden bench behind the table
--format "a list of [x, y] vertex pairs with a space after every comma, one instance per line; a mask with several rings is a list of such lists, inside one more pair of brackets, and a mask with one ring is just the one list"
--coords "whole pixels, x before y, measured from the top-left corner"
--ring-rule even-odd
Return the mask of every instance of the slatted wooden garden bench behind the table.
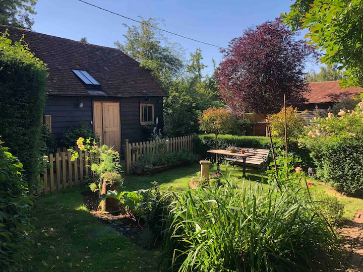
[[[270, 154], [269, 149], [258, 149], [258, 148], [241, 148], [246, 150], [246, 154], [253, 153], [255, 156], [246, 158], [246, 166], [264, 168], [268, 162], [268, 156]], [[229, 164], [243, 166], [244, 163], [239, 157], [230, 156], [225, 158]]]

